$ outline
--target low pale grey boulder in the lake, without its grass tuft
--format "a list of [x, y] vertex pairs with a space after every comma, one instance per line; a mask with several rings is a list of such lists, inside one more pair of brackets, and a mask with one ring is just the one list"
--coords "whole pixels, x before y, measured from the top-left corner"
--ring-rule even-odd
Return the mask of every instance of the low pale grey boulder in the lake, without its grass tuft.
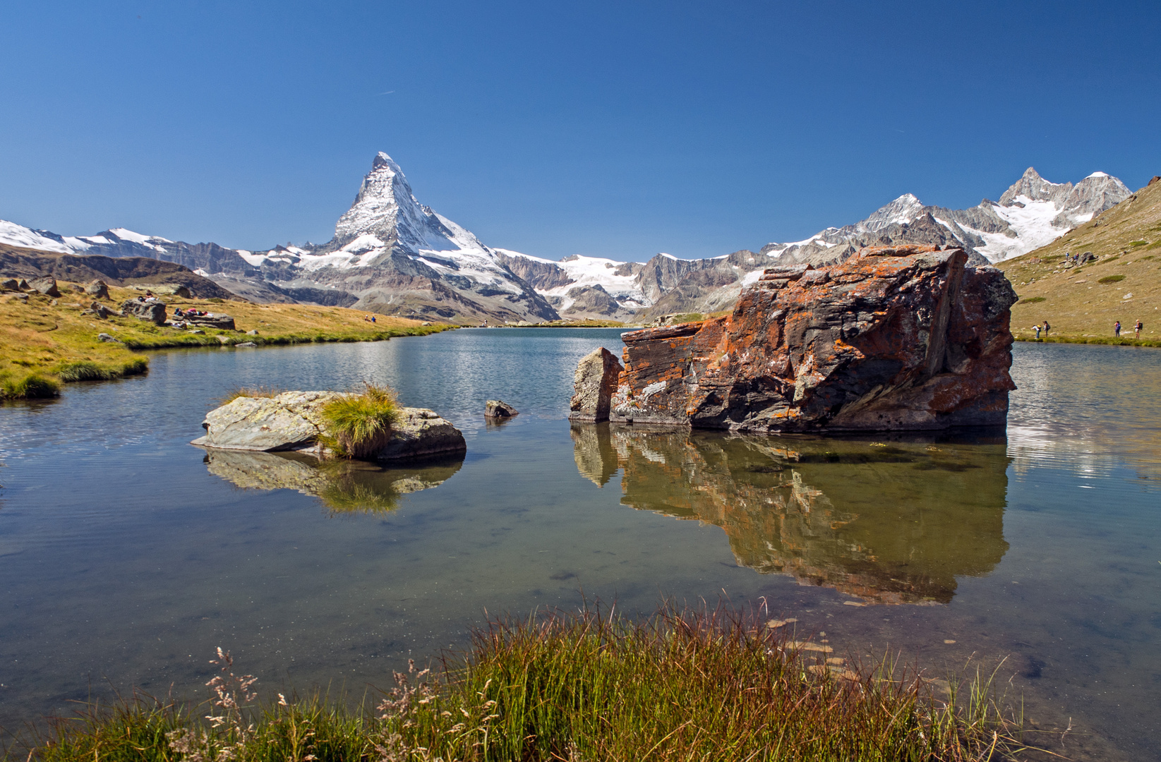
[[[323, 408], [342, 392], [282, 392], [274, 397], [239, 397], [205, 414], [205, 436], [192, 442], [219, 450], [319, 450]], [[377, 460], [403, 460], [467, 451], [460, 433], [434, 411], [404, 407], [391, 426], [391, 438]]]

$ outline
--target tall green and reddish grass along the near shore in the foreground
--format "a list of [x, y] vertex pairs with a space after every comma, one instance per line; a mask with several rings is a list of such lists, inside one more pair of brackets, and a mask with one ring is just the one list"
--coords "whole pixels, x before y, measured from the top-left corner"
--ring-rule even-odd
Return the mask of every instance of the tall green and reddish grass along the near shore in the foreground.
[[954, 690], [940, 701], [894, 663], [832, 669], [781, 632], [722, 609], [664, 609], [640, 623], [596, 610], [493, 622], [467, 654], [445, 656], [438, 676], [396, 674], [374, 711], [317, 696], [259, 706], [253, 680], [219, 651], [208, 706], [137, 698], [60, 720], [7, 759], [845, 762], [1019, 752], [987, 677], [965, 703]]

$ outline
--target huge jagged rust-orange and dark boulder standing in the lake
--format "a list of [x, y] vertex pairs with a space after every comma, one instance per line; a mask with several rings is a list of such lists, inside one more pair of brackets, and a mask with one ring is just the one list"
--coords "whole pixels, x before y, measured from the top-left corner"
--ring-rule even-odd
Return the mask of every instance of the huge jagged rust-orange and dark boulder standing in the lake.
[[878, 247], [765, 270], [733, 314], [625, 334], [610, 420], [749, 431], [1003, 424], [1003, 273], [961, 249]]

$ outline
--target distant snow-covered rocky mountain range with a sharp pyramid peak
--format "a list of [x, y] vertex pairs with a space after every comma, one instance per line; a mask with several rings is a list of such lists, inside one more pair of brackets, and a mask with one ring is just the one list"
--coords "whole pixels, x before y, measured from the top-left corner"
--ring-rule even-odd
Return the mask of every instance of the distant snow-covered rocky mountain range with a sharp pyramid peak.
[[1055, 240], [1128, 195], [1124, 183], [1102, 172], [1074, 186], [1048, 182], [1029, 167], [998, 202], [986, 198], [954, 210], [926, 206], [906, 194], [853, 225], [828, 227], [802, 241], [766, 244], [757, 252], [702, 260], [657, 254], [647, 262], [579, 255], [551, 261], [485, 246], [420, 204], [399, 166], [380, 153], [326, 244], [250, 252], [123, 227], [72, 237], [3, 220], [0, 242], [175, 262], [254, 302], [340, 305], [457, 322], [642, 320], [724, 310], [767, 267], [842, 261], [863, 246], [951, 245], [966, 249], [978, 264], [1000, 262]]

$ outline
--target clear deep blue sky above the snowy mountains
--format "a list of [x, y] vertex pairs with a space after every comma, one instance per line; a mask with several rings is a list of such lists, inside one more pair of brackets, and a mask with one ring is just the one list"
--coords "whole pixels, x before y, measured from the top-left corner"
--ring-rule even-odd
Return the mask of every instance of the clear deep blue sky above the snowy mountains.
[[376, 151], [490, 246], [714, 256], [1161, 174], [1156, 2], [0, 3], [0, 218], [325, 241]]

